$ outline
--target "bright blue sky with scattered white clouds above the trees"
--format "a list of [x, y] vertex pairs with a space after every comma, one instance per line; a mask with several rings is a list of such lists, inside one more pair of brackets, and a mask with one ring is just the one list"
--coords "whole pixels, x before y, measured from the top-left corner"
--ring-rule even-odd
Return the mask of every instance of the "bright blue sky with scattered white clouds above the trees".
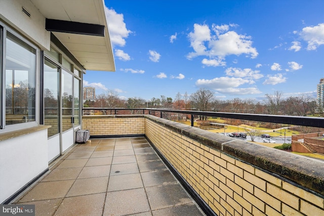
[[84, 87], [120, 98], [311, 95], [324, 77], [324, 1], [105, 0], [116, 71]]

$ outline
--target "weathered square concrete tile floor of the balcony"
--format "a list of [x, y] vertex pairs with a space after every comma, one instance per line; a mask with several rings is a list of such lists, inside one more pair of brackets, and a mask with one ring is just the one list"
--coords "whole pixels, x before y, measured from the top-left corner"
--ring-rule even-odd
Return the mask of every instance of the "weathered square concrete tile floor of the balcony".
[[15, 203], [36, 215], [205, 215], [144, 137], [78, 144]]

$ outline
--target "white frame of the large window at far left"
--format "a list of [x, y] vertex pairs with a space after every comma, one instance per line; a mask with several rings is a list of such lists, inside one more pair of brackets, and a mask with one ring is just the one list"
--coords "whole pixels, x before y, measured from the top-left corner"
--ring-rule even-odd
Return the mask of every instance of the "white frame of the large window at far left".
[[[17, 124], [6, 125], [6, 38], [7, 32], [22, 40], [25, 44], [35, 50], [35, 120]], [[40, 49], [31, 41], [26, 39], [19, 32], [0, 21], [0, 134], [37, 126], [39, 122], [39, 70], [40, 70]]]

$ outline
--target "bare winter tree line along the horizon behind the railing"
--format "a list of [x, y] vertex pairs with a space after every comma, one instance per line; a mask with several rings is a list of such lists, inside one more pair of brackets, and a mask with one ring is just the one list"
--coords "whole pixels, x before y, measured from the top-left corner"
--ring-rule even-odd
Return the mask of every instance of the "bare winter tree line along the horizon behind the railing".
[[[255, 113], [271, 115], [323, 116], [323, 107], [317, 105], [315, 98], [308, 95], [284, 98], [281, 92], [266, 94], [263, 101], [256, 99], [234, 98], [217, 100], [214, 92], [199, 89], [188, 95], [178, 92], [174, 99], [161, 95], [146, 101], [140, 97], [120, 99], [118, 93], [108, 90], [96, 97], [95, 101], [87, 100], [84, 107], [94, 108], [168, 108], [177, 110], [198, 110], [231, 113]], [[108, 114], [108, 113], [105, 113]]]

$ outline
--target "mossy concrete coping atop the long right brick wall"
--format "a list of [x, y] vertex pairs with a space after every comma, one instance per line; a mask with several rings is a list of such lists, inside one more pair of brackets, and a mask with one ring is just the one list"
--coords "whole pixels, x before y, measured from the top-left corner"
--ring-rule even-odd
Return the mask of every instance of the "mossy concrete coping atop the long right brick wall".
[[324, 161], [225, 137], [152, 115], [145, 115], [145, 118], [324, 197]]

